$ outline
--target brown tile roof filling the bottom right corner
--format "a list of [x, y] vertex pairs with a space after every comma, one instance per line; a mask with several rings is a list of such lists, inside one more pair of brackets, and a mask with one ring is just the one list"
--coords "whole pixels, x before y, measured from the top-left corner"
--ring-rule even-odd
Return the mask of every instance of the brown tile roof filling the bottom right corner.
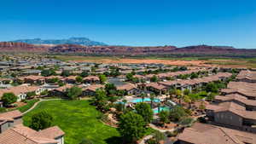
[[200, 123], [195, 123], [191, 128], [183, 130], [177, 139], [193, 144], [256, 143], [256, 135], [253, 133]]

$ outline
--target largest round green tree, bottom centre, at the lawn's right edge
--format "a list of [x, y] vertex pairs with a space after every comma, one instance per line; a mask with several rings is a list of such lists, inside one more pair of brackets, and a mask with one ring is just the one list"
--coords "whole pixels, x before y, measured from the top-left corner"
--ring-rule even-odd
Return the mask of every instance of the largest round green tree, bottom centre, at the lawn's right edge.
[[135, 112], [122, 114], [119, 119], [119, 133], [128, 142], [134, 142], [143, 137], [146, 132], [143, 117]]

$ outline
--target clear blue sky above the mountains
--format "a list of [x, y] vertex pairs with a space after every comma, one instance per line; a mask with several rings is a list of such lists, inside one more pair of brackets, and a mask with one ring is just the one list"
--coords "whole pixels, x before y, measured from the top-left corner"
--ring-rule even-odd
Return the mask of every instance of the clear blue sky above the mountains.
[[34, 37], [256, 49], [256, 0], [1, 1], [0, 41]]

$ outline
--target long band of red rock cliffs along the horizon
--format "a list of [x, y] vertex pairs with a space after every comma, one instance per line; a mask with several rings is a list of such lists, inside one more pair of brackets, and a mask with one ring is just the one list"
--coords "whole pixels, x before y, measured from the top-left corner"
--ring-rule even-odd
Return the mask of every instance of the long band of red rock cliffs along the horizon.
[[[73, 39], [73, 38], [70, 38]], [[74, 38], [77, 39], [77, 38]], [[84, 39], [84, 38], [82, 38]], [[77, 41], [76, 43], [79, 43]], [[230, 56], [255, 57], [256, 49], [235, 49], [230, 46], [195, 45], [183, 48], [176, 46], [108, 46], [81, 44], [31, 44], [0, 42], [0, 52], [39, 52], [49, 54], [79, 54], [79, 55], [177, 55], [177, 56]]]

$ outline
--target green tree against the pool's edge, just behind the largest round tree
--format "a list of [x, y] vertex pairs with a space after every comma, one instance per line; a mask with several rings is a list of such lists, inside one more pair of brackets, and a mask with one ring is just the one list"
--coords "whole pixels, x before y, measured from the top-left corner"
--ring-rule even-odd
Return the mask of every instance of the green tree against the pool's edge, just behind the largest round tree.
[[152, 121], [154, 112], [147, 103], [137, 103], [135, 110], [137, 114], [143, 117], [146, 124], [149, 124]]

